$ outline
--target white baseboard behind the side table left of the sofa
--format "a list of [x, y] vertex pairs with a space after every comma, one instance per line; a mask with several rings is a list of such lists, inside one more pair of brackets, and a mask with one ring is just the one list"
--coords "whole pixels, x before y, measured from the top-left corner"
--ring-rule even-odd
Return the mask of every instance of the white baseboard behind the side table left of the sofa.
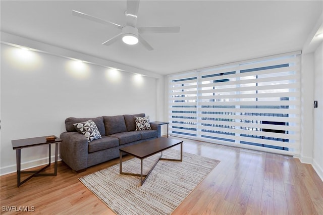
[[[59, 160], [62, 160], [60, 158], [60, 155], [58, 155], [58, 161]], [[50, 163], [54, 163], [54, 162], [55, 162], [55, 155], [52, 155], [50, 157]], [[48, 164], [48, 157], [39, 158], [36, 160], [30, 160], [29, 162], [21, 163], [21, 170], [39, 167], [39, 166], [46, 165], [46, 164]], [[0, 176], [7, 175], [10, 173], [15, 173], [15, 172], [17, 172], [17, 165], [10, 165], [10, 166], [3, 167], [0, 169]]]

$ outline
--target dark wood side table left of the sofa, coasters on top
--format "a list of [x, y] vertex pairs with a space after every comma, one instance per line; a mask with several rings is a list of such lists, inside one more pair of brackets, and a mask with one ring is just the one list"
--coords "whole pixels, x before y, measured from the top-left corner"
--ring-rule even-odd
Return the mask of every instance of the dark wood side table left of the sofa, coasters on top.
[[[34, 138], [27, 138], [27, 139], [20, 139], [20, 140], [12, 140], [12, 147], [14, 150], [16, 150], [16, 160], [17, 160], [17, 186], [20, 187], [23, 183], [28, 181], [34, 176], [56, 176], [57, 175], [57, 160], [58, 160], [58, 149], [59, 149], [59, 143], [62, 142], [62, 140], [58, 137], [55, 138], [55, 140], [52, 141], [46, 141], [46, 137], [34, 137]], [[21, 149], [22, 148], [28, 148], [38, 145], [45, 145], [48, 144], [49, 146], [49, 155], [48, 155], [48, 165], [46, 167], [43, 167], [40, 170], [37, 171], [21, 171]], [[50, 144], [55, 144], [55, 170], [54, 173], [40, 173], [41, 171], [45, 170], [47, 167], [50, 166]], [[31, 176], [20, 181], [20, 175], [22, 173], [33, 173]]]

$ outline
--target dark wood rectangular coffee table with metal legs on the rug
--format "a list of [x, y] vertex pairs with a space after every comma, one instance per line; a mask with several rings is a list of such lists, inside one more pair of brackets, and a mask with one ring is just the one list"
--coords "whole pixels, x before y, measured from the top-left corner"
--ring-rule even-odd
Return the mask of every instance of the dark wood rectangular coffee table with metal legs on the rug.
[[[164, 150], [169, 149], [169, 148], [174, 147], [179, 144], [181, 144], [181, 158], [180, 159], [162, 158]], [[120, 174], [131, 175], [131, 176], [140, 176], [140, 186], [142, 186], [143, 183], [148, 178], [151, 171], [153, 170], [153, 168], [157, 165], [159, 160], [173, 160], [173, 161], [180, 161], [180, 162], [183, 160], [183, 141], [171, 139], [171, 138], [166, 138], [166, 137], [160, 137], [160, 138], [145, 141], [145, 142], [142, 142], [139, 144], [120, 148], [119, 151], [120, 151]], [[122, 153], [123, 152], [126, 154], [130, 154], [134, 157], [137, 157], [141, 160], [140, 174], [122, 172]], [[150, 171], [146, 175], [143, 175], [142, 174], [143, 159], [150, 157], [151, 155], [154, 155], [159, 152], [161, 152], [161, 154], [160, 154], [158, 160], [156, 161], [156, 163], [153, 165], [153, 167], [150, 169]], [[143, 177], [145, 177], [145, 178], [143, 179]]]

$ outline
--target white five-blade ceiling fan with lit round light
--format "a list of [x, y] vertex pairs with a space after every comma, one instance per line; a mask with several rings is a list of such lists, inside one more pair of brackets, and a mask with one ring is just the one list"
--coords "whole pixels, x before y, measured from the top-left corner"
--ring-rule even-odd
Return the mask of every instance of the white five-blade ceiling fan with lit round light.
[[126, 16], [126, 25], [122, 26], [117, 23], [113, 23], [110, 21], [103, 20], [98, 17], [94, 17], [88, 14], [84, 14], [79, 11], [72, 10], [72, 15], [85, 18], [94, 22], [99, 22], [102, 24], [106, 24], [109, 26], [114, 26], [122, 30], [121, 33], [117, 34], [116, 36], [106, 40], [102, 43], [102, 45], [111, 45], [112, 43], [118, 41], [122, 38], [122, 41], [126, 44], [133, 45], [137, 44], [138, 41], [143, 44], [145, 48], [148, 50], [153, 50], [151, 45], [141, 36], [141, 33], [179, 33], [180, 27], [178, 26], [169, 26], [169, 27], [137, 27], [137, 14], [139, 8], [139, 0], [127, 1], [127, 10], [125, 11]]

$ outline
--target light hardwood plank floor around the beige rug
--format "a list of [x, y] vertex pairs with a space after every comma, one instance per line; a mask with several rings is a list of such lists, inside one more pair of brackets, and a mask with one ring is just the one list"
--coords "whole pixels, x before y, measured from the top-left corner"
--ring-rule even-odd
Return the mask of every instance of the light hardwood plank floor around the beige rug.
[[[185, 152], [221, 162], [173, 214], [323, 214], [323, 182], [299, 159], [183, 140]], [[118, 162], [114, 159], [79, 174], [59, 162], [56, 177], [35, 177], [19, 188], [16, 173], [2, 176], [1, 213], [19, 213], [4, 212], [6, 206], [29, 206], [35, 210], [32, 214], [114, 214], [78, 178]]]

